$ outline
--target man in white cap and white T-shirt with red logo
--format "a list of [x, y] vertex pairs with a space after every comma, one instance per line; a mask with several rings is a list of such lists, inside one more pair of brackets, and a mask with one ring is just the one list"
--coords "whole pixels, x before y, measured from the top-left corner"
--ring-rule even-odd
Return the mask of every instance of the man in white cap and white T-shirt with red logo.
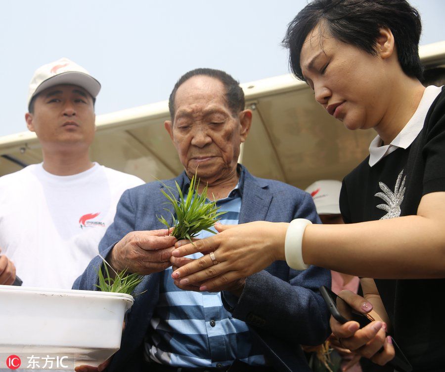
[[[0, 178], [0, 284], [71, 288], [139, 178], [91, 162], [100, 83], [62, 58], [34, 74], [25, 115], [43, 163]], [[15, 264], [14, 269], [14, 264]]]

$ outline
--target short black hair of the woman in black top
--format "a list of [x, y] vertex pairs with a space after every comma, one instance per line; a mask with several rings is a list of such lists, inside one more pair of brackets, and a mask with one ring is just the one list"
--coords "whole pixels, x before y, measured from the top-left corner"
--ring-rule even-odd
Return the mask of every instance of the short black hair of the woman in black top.
[[387, 27], [394, 35], [403, 72], [422, 78], [419, 39], [422, 23], [417, 9], [406, 0], [313, 0], [288, 25], [283, 45], [289, 49], [290, 68], [304, 80], [300, 53], [309, 33], [320, 24], [336, 39], [377, 55], [379, 30]]

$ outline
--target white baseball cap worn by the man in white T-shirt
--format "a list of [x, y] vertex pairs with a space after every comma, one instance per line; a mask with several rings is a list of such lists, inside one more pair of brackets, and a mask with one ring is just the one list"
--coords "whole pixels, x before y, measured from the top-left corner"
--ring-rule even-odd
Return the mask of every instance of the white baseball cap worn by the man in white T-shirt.
[[73, 84], [84, 88], [93, 98], [100, 91], [100, 83], [87, 70], [68, 58], [39, 67], [29, 83], [28, 108], [33, 97], [54, 85]]

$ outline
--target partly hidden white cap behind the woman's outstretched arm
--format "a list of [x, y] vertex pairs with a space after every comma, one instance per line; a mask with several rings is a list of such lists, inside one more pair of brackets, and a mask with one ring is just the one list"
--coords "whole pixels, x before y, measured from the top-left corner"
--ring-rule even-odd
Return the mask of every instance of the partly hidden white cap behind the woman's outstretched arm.
[[320, 180], [306, 189], [312, 195], [315, 208], [319, 215], [340, 214], [340, 190], [342, 183], [337, 180]]

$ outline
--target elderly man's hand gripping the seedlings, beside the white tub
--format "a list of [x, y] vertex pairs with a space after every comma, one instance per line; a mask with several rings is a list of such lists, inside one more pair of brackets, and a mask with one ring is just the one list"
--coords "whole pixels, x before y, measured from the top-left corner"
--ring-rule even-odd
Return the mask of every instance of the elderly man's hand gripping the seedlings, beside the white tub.
[[177, 242], [168, 229], [129, 232], [107, 256], [110, 265], [121, 271], [148, 275], [171, 266], [170, 257]]

